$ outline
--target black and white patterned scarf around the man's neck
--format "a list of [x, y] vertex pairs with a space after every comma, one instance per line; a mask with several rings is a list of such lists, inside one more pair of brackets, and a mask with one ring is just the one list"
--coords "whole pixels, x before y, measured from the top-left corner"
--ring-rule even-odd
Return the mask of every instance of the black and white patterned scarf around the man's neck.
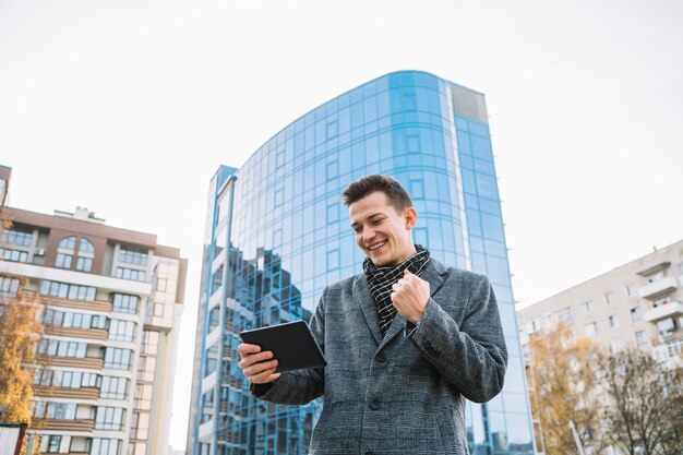
[[382, 335], [386, 333], [386, 330], [396, 316], [396, 308], [392, 303], [392, 286], [403, 278], [406, 268], [419, 276], [429, 262], [429, 250], [419, 244], [416, 244], [415, 249], [417, 253], [398, 265], [378, 267], [370, 261], [370, 258], [366, 258], [366, 261], [363, 261], [363, 271], [366, 272], [370, 294], [372, 294], [372, 298], [378, 306]]

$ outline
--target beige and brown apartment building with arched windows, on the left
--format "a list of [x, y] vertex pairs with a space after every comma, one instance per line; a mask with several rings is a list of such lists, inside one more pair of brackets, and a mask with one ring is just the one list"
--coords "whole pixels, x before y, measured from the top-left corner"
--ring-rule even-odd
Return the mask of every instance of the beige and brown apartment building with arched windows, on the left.
[[2, 214], [0, 300], [23, 295], [45, 326], [28, 435], [41, 453], [167, 453], [187, 260], [86, 208]]

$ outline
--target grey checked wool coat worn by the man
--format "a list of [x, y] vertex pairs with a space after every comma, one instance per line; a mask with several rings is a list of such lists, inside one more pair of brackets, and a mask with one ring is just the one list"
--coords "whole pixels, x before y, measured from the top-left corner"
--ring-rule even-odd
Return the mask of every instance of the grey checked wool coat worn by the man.
[[382, 337], [364, 275], [325, 288], [310, 327], [324, 369], [284, 373], [252, 392], [300, 405], [324, 396], [310, 454], [467, 454], [465, 398], [503, 387], [507, 350], [483, 275], [431, 259], [431, 298], [417, 328], [396, 315]]

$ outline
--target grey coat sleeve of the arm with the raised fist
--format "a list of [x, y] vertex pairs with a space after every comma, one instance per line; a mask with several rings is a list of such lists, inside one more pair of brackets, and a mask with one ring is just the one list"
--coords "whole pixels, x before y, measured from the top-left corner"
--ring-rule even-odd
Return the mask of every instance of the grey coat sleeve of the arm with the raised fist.
[[486, 403], [503, 388], [507, 349], [493, 288], [486, 276], [474, 276], [460, 326], [430, 298], [422, 320], [417, 327], [408, 323], [405, 334], [445, 381]]

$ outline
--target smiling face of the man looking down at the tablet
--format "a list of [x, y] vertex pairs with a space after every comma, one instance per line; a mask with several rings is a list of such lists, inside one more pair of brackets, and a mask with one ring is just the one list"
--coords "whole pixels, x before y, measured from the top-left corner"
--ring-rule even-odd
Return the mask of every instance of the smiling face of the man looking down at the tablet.
[[415, 208], [398, 213], [384, 192], [375, 191], [350, 204], [349, 216], [356, 243], [374, 265], [399, 264], [415, 254]]

